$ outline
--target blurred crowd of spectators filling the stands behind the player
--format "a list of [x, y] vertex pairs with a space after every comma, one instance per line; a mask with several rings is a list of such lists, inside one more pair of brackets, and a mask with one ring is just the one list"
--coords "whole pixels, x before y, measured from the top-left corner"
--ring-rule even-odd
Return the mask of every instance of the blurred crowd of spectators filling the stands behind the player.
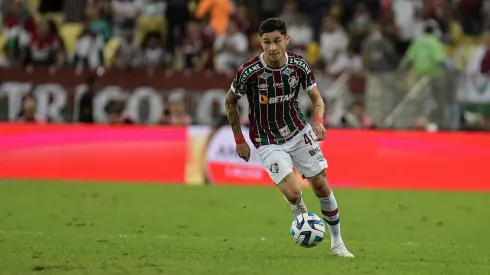
[[[352, 101], [341, 126], [371, 128], [390, 116], [405, 116], [393, 110], [410, 109], [405, 95], [426, 77], [437, 107], [418, 111], [402, 128], [490, 129], [486, 102], [456, 104], [455, 115], [451, 82], [455, 75], [490, 73], [489, 0], [0, 0], [0, 5], [4, 67], [233, 74], [261, 52], [260, 22], [277, 16], [288, 24], [290, 49], [316, 70], [334, 79], [366, 77], [365, 95]], [[423, 93], [415, 94], [427, 102]]]

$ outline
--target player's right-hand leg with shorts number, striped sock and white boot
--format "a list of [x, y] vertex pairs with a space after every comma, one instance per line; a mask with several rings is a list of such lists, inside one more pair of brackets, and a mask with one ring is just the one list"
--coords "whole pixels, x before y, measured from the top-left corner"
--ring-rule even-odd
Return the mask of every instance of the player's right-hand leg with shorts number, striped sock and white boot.
[[327, 160], [311, 128], [307, 127], [299, 138], [292, 140], [289, 146], [294, 165], [298, 172], [308, 179], [313, 192], [320, 201], [323, 219], [330, 232], [332, 252], [336, 256], [353, 257], [342, 240], [337, 201], [326, 177]]

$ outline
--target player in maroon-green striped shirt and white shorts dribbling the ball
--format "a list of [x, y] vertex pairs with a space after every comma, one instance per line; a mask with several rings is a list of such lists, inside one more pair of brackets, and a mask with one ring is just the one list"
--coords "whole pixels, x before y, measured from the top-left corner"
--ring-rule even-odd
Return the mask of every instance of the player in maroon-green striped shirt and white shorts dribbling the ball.
[[[278, 18], [262, 22], [259, 28], [264, 52], [238, 70], [226, 97], [226, 112], [236, 141], [238, 155], [248, 162], [250, 147], [240, 127], [237, 102], [246, 96], [250, 110], [250, 139], [269, 176], [291, 203], [295, 216], [307, 213], [301, 187], [293, 174], [293, 164], [308, 179], [320, 201], [323, 218], [335, 256], [354, 257], [340, 235], [337, 201], [327, 182], [327, 161], [317, 141], [325, 139], [325, 106], [308, 62], [286, 51], [289, 43], [286, 23]], [[314, 122], [306, 122], [298, 105], [300, 87], [314, 106]]]

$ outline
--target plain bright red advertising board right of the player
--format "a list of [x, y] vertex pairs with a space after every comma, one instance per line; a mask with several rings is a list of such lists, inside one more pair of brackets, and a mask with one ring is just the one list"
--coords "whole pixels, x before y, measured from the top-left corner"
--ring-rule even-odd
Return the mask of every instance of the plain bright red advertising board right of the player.
[[490, 191], [490, 135], [332, 130], [322, 150], [339, 187]]

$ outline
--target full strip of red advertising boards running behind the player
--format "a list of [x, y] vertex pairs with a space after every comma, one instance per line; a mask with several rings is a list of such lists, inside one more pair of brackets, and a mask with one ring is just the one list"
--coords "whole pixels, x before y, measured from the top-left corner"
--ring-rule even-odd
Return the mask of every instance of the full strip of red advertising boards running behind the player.
[[[0, 124], [0, 178], [274, 186], [258, 159], [234, 155], [227, 131]], [[335, 188], [490, 191], [490, 135], [327, 133]]]

